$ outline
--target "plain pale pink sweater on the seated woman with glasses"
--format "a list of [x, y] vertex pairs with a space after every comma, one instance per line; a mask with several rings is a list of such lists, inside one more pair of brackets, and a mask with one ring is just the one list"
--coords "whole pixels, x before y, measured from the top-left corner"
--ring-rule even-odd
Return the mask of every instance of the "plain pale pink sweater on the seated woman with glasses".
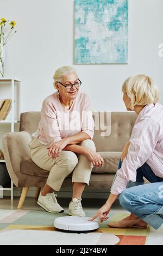
[[94, 126], [90, 100], [85, 93], [78, 92], [71, 108], [66, 110], [56, 92], [43, 100], [41, 120], [32, 137], [43, 144], [52, 144], [84, 131], [92, 139]]

